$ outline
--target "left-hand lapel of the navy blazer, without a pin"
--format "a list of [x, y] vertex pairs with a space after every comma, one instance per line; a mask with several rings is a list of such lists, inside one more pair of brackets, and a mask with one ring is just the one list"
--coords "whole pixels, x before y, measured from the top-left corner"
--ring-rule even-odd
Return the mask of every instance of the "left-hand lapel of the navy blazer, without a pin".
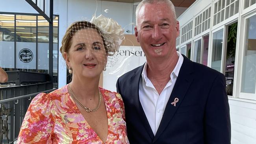
[[[145, 64], [144, 64], [145, 65]], [[131, 78], [132, 86], [131, 86], [131, 93], [134, 94], [134, 105], [137, 110], [137, 113], [139, 117], [141, 118], [141, 121], [143, 126], [145, 127], [146, 131], [148, 132], [148, 135], [153, 140], [154, 139], [154, 133], [152, 132], [152, 129], [148, 123], [147, 116], [143, 110], [143, 107], [141, 105], [141, 102], [139, 101], [139, 82], [141, 80], [141, 73], [144, 68], [144, 65], [142, 65], [137, 72], [135, 72], [134, 76]]]

